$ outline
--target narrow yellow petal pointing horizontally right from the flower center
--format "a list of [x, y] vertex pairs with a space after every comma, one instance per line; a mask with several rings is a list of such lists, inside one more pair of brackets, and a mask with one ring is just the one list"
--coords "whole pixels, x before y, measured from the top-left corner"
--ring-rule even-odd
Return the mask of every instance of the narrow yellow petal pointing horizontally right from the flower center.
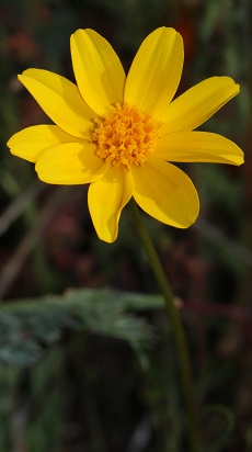
[[242, 150], [230, 139], [208, 132], [177, 132], [162, 136], [154, 157], [168, 161], [241, 165]]

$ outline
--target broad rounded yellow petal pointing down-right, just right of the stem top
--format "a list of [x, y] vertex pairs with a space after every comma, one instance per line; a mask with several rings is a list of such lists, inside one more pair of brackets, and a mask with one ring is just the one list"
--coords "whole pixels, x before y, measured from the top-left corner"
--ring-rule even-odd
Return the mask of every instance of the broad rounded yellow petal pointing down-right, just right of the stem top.
[[159, 222], [179, 228], [191, 226], [198, 215], [198, 195], [191, 179], [175, 166], [153, 157], [133, 168], [134, 197]]

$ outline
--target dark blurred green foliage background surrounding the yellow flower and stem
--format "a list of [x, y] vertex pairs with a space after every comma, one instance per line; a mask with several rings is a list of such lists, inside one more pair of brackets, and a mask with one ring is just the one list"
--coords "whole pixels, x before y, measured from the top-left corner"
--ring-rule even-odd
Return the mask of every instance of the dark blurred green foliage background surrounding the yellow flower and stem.
[[87, 188], [38, 187], [5, 146], [48, 121], [16, 74], [38, 67], [73, 80], [78, 27], [105, 36], [128, 69], [162, 25], [184, 38], [179, 92], [215, 75], [241, 84], [202, 128], [238, 143], [244, 168], [186, 166], [202, 216], [190, 230], [145, 219], [182, 306], [202, 451], [252, 450], [251, 14], [250, 0], [1, 1], [1, 452], [185, 450], [172, 334], [128, 213], [115, 244], [99, 241]]

